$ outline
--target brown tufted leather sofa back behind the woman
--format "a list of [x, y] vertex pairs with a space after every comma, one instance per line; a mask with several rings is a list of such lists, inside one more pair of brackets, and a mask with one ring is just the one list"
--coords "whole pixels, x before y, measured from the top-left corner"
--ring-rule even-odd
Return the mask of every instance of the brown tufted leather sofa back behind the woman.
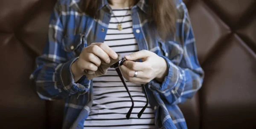
[[[256, 0], [184, 0], [205, 80], [180, 104], [189, 129], [256, 128]], [[64, 101], [43, 101], [29, 75], [55, 0], [0, 1], [0, 128], [60, 129]]]

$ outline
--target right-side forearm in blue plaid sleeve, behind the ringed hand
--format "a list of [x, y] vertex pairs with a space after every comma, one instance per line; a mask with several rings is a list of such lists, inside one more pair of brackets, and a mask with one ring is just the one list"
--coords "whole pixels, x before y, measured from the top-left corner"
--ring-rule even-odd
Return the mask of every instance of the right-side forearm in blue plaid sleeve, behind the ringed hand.
[[164, 81], [161, 83], [156, 80], [151, 81], [149, 83], [151, 89], [160, 93], [170, 104], [177, 104], [191, 98], [202, 86], [204, 72], [201, 67], [182, 68], [167, 58], [166, 61], [168, 72]]

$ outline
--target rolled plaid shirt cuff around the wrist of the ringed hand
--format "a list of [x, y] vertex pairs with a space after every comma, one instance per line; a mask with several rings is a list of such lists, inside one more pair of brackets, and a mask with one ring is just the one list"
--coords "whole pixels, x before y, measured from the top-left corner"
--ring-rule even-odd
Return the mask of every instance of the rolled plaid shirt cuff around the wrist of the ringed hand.
[[176, 81], [179, 80], [179, 68], [175, 66], [166, 56], [160, 56], [163, 57], [163, 59], [166, 60], [168, 72], [167, 75], [164, 77], [164, 80], [162, 83], [157, 82], [155, 79], [150, 81], [150, 85], [152, 88], [156, 90], [166, 90], [166, 89], [173, 89], [175, 87]]

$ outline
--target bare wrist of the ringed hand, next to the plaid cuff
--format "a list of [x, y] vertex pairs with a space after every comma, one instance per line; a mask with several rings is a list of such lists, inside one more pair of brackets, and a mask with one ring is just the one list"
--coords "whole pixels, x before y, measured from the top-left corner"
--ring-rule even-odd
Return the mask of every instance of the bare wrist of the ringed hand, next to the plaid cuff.
[[163, 82], [165, 76], [167, 75], [168, 67], [167, 67], [167, 62], [166, 62], [166, 60], [163, 59], [163, 57], [160, 57], [160, 58], [161, 58], [161, 60], [162, 60], [162, 62], [161, 62], [162, 65], [159, 66], [159, 68], [160, 68], [160, 70], [159, 70], [160, 73], [157, 75], [157, 77], [156, 77], [155, 79], [156, 79], [158, 82]]

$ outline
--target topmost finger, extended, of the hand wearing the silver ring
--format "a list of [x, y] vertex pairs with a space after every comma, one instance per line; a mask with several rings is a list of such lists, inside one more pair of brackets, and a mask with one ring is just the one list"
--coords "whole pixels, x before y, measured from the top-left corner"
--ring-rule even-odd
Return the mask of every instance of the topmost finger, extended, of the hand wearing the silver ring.
[[125, 56], [125, 59], [127, 60], [136, 60], [136, 59], [142, 59], [145, 57], [148, 57], [151, 55], [152, 52], [148, 51], [148, 50], [140, 50], [137, 51], [135, 53], [131, 53], [130, 55]]

